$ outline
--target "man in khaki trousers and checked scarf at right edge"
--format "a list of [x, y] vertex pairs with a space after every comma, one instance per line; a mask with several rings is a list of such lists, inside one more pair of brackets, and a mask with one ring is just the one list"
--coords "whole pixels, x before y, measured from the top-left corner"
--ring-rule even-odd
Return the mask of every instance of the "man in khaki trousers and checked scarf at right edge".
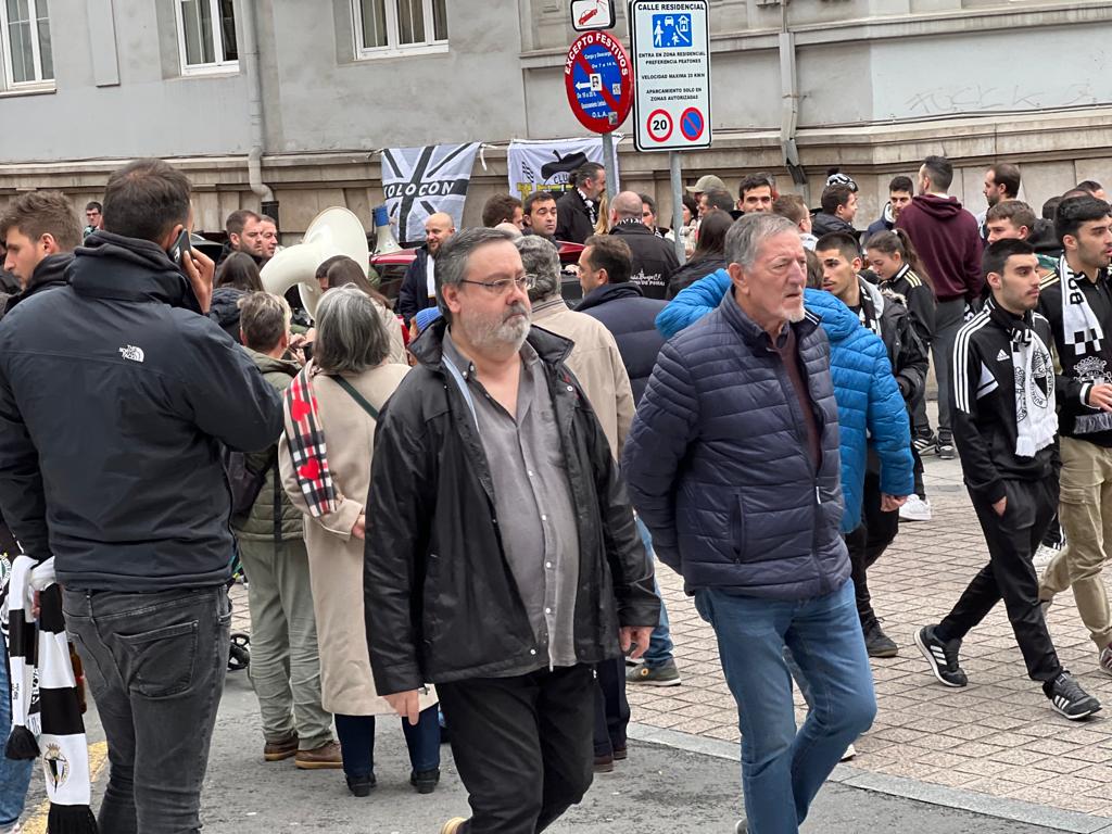
[[1073, 588], [1098, 665], [1112, 675], [1112, 609], [1101, 577], [1112, 547], [1110, 215], [1103, 200], [1071, 197], [1054, 220], [1065, 252], [1058, 276], [1043, 282], [1040, 311], [1050, 320], [1062, 367], [1059, 516], [1066, 546], [1046, 566], [1039, 597], [1050, 600]]

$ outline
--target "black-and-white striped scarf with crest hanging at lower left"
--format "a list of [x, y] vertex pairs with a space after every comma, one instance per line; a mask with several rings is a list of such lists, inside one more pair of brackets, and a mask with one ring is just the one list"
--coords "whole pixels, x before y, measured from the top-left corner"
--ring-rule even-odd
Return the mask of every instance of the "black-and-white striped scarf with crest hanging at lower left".
[[[0, 607], [9, 629], [12, 707], [6, 753], [18, 759], [41, 755], [50, 834], [96, 834], [97, 821], [89, 808], [89, 747], [53, 563], [17, 557]], [[38, 617], [34, 592], [39, 592]]]

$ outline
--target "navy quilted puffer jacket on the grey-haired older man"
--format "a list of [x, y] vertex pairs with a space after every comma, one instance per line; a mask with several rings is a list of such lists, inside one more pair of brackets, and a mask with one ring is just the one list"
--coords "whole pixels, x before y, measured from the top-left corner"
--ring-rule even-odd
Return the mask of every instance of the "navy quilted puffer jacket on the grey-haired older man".
[[637, 407], [622, 469], [688, 593], [804, 599], [850, 576], [830, 347], [813, 314], [792, 329], [822, 434], [817, 470], [784, 363], [732, 296], [664, 346]]

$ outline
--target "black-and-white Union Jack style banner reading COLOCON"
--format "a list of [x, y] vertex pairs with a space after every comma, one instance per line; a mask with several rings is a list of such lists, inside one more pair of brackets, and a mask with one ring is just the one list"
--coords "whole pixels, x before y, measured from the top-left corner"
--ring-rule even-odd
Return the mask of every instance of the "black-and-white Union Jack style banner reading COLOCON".
[[383, 192], [403, 246], [424, 242], [425, 221], [437, 211], [450, 215], [457, 228], [463, 225], [478, 151], [478, 142], [383, 151]]

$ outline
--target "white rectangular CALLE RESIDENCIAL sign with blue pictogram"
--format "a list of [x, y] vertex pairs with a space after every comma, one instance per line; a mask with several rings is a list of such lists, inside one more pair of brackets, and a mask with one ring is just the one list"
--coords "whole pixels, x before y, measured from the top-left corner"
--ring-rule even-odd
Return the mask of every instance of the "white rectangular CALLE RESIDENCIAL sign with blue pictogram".
[[711, 146], [707, 4], [707, 0], [629, 3], [637, 150]]

